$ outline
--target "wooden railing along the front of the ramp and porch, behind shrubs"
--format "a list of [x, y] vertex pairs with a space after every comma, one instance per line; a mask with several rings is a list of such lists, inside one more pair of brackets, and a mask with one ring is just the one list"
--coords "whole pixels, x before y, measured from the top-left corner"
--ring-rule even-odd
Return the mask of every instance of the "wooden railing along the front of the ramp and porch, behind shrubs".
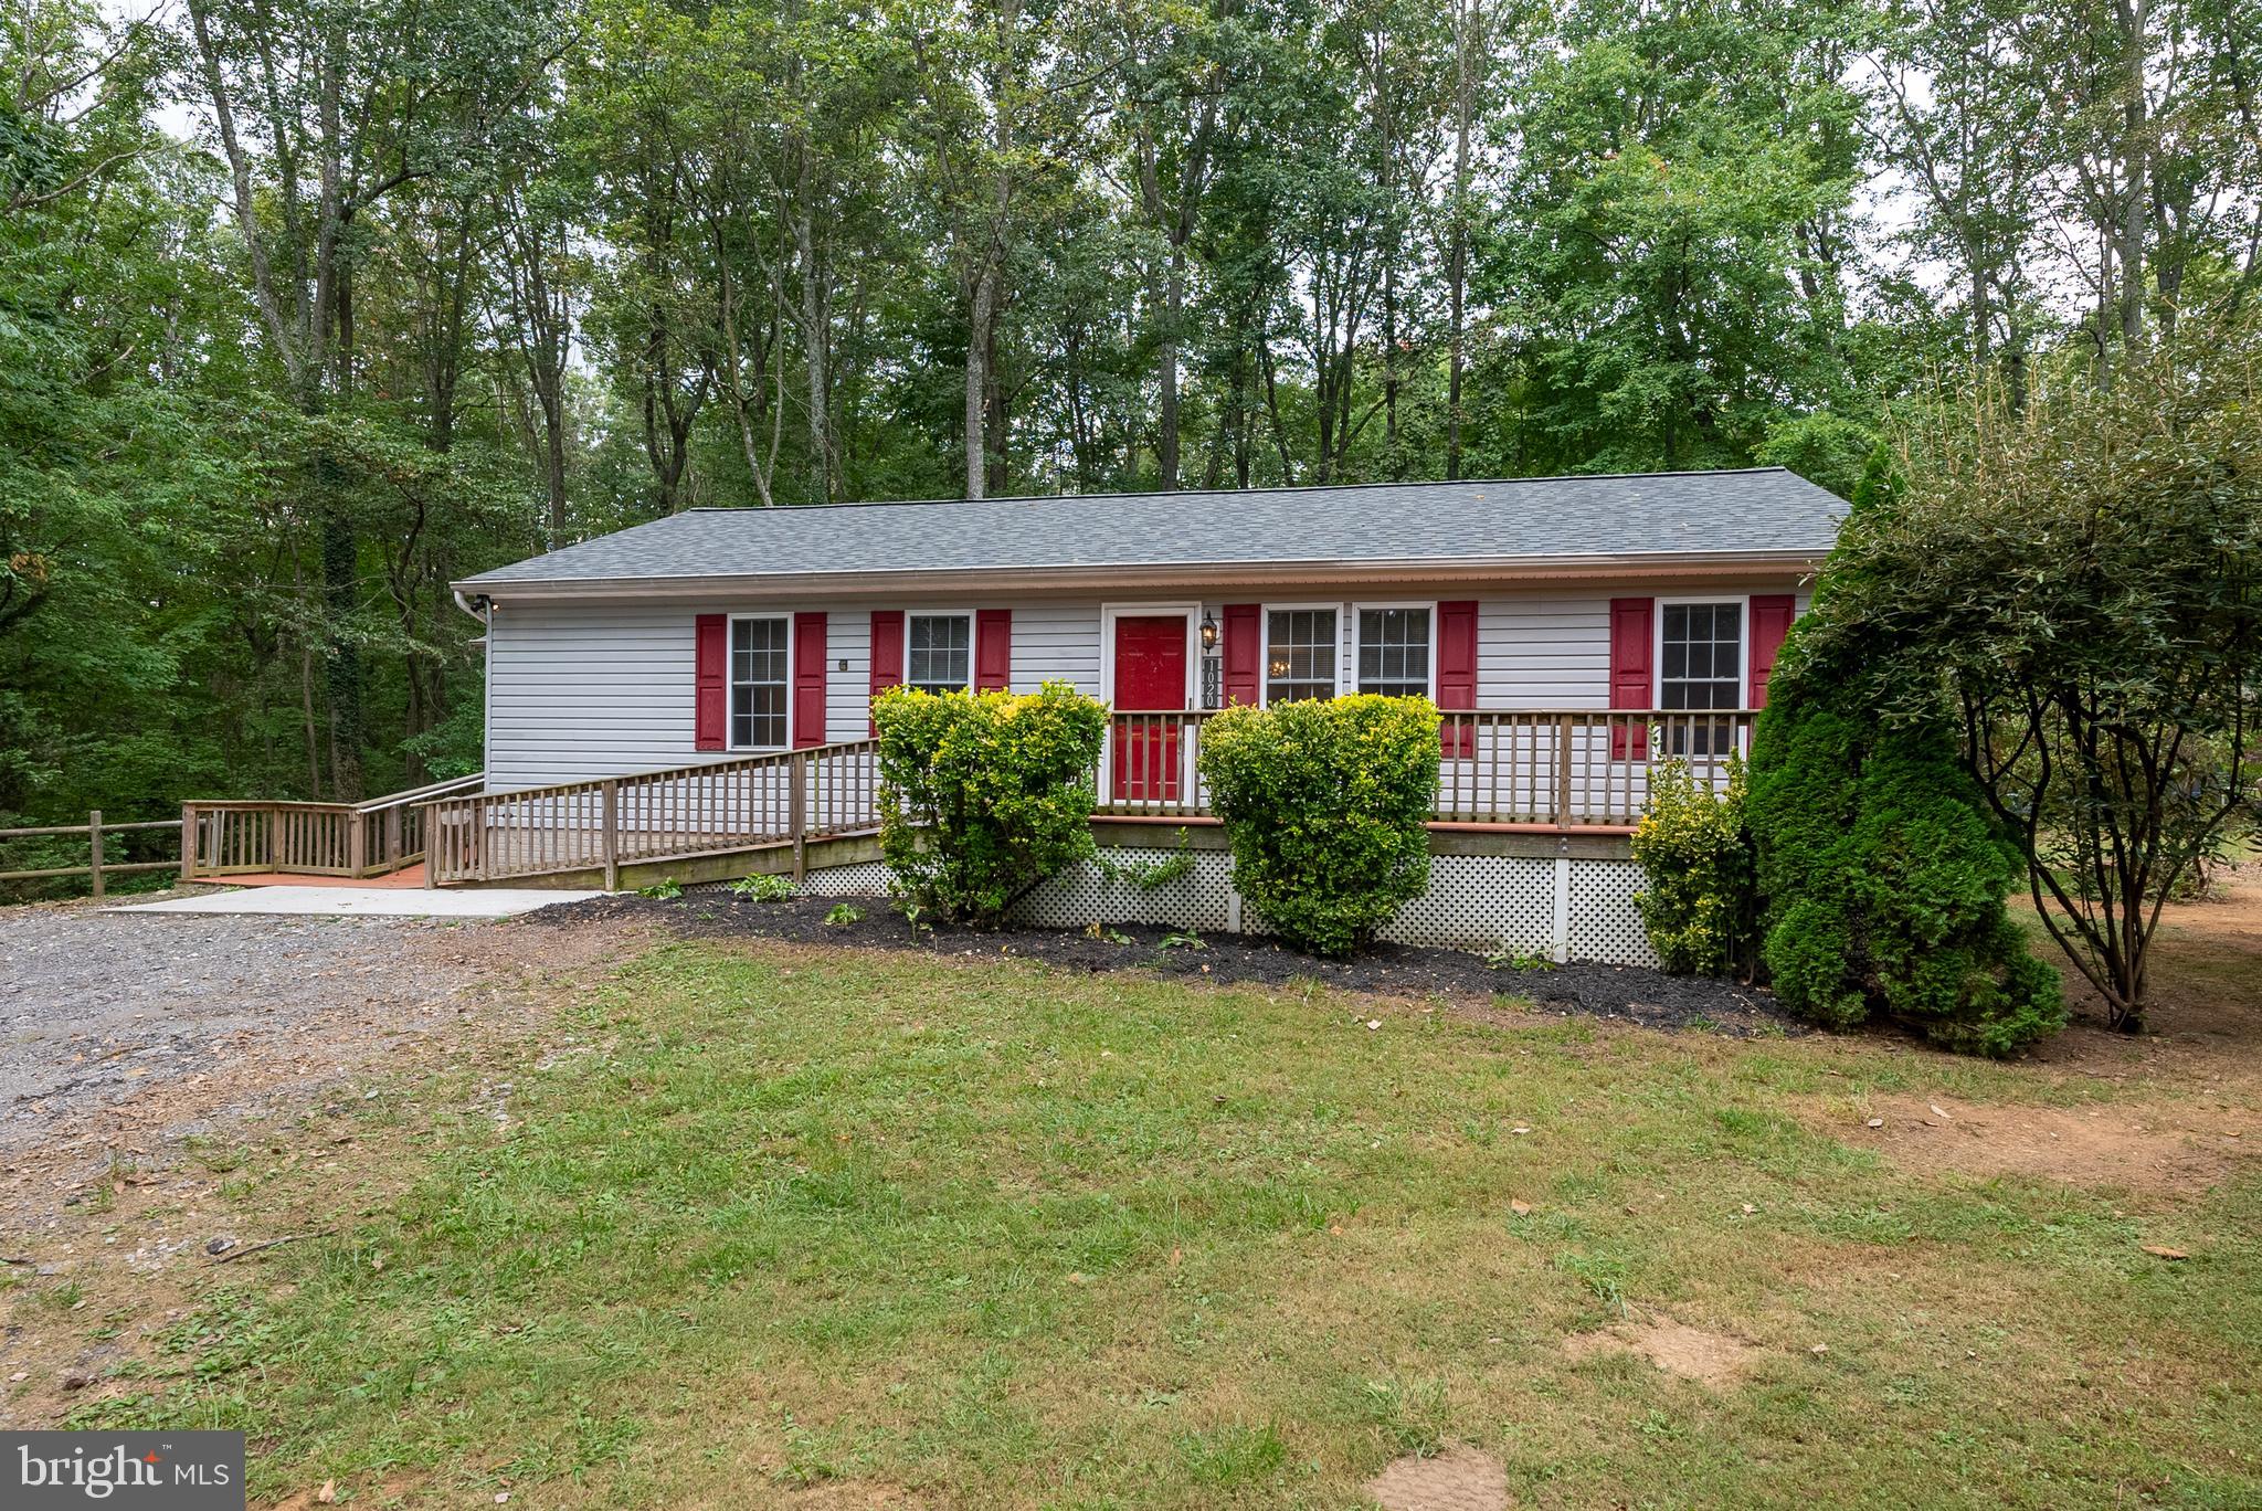
[[[1099, 758], [1097, 817], [1203, 819], [1201, 728], [1208, 713], [1120, 713]], [[1439, 823], [1629, 828], [1669, 758], [1724, 785], [1751, 740], [1751, 710], [1450, 713], [1439, 733]], [[498, 882], [728, 855], [864, 835], [880, 826], [878, 742], [740, 756], [520, 792], [423, 801], [432, 837], [425, 884]]]

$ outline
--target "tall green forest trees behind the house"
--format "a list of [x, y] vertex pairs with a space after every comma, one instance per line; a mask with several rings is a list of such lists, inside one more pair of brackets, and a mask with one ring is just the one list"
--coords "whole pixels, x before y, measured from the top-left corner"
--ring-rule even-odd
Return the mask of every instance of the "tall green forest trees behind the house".
[[2237, 0], [0, 5], [0, 826], [477, 769], [674, 509], [1850, 493], [2262, 251]]

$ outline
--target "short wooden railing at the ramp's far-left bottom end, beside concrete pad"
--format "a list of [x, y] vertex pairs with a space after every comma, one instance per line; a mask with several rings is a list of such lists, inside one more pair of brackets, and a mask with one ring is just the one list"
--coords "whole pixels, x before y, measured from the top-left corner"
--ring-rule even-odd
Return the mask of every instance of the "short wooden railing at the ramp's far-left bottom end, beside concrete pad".
[[484, 783], [475, 771], [366, 803], [183, 803], [181, 880], [387, 875], [425, 857], [425, 803]]

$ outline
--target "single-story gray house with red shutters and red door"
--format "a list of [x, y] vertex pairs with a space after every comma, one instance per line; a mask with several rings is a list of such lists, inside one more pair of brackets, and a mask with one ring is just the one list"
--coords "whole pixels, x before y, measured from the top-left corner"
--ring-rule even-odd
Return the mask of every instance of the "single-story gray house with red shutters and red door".
[[[787, 832], [808, 871], [814, 808], [830, 837], [869, 819], [878, 690], [1065, 681], [1117, 710], [1099, 787], [1129, 844], [1140, 819], [1199, 828], [1206, 710], [1418, 692], [1448, 715], [1441, 851], [1615, 862], [1631, 896], [1649, 767], [1744, 742], [1841, 518], [1782, 468], [694, 509], [457, 584], [486, 622], [486, 808], [455, 823], [538, 830], [611, 785], [608, 875]], [[536, 848], [466, 844], [437, 880], [593, 855]], [[1502, 939], [1506, 912], [1423, 936]]]

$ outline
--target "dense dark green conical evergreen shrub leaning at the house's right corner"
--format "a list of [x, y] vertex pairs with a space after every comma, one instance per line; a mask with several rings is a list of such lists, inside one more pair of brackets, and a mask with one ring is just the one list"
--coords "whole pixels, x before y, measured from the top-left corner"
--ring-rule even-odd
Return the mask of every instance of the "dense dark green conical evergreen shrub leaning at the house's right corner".
[[2065, 1022], [2058, 975], [2004, 909], [2024, 875], [1943, 724], [1887, 724], [1859, 679], [1778, 663], [1744, 803], [1762, 959], [1794, 1013], [1889, 1018], [1968, 1054]]

